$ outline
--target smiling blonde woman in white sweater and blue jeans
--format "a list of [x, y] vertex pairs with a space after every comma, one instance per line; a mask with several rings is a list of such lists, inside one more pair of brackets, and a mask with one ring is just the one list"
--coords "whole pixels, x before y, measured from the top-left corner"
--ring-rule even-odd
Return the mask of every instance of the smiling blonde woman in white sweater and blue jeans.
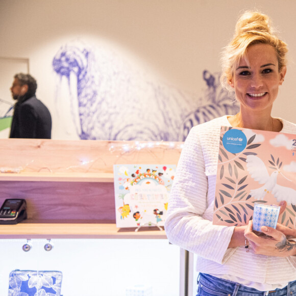
[[296, 133], [296, 125], [271, 116], [286, 75], [286, 53], [267, 15], [241, 15], [224, 52], [221, 77], [235, 91], [240, 110], [193, 127], [185, 141], [165, 230], [170, 242], [198, 255], [200, 296], [296, 296], [296, 243], [287, 239], [296, 237], [294, 230], [265, 227], [271, 237], [266, 239], [252, 232], [252, 221], [239, 227], [212, 224], [220, 127]]

